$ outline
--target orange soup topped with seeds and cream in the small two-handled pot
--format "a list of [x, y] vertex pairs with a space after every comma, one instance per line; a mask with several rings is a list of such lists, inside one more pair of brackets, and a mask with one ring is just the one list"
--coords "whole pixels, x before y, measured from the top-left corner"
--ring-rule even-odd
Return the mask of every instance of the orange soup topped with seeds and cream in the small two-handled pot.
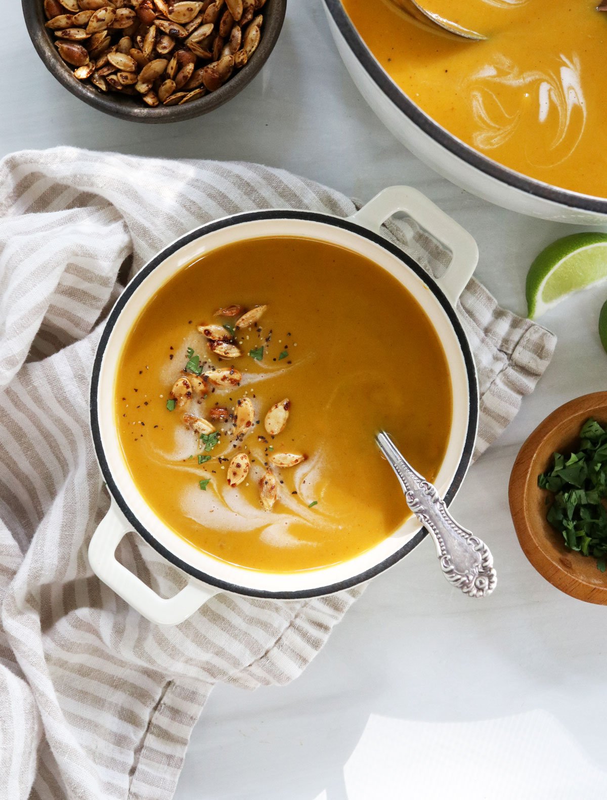
[[452, 418], [441, 342], [367, 258], [307, 238], [212, 250], [150, 300], [122, 350], [126, 465], [200, 550], [291, 572], [353, 558], [409, 516], [374, 434], [430, 480]]

